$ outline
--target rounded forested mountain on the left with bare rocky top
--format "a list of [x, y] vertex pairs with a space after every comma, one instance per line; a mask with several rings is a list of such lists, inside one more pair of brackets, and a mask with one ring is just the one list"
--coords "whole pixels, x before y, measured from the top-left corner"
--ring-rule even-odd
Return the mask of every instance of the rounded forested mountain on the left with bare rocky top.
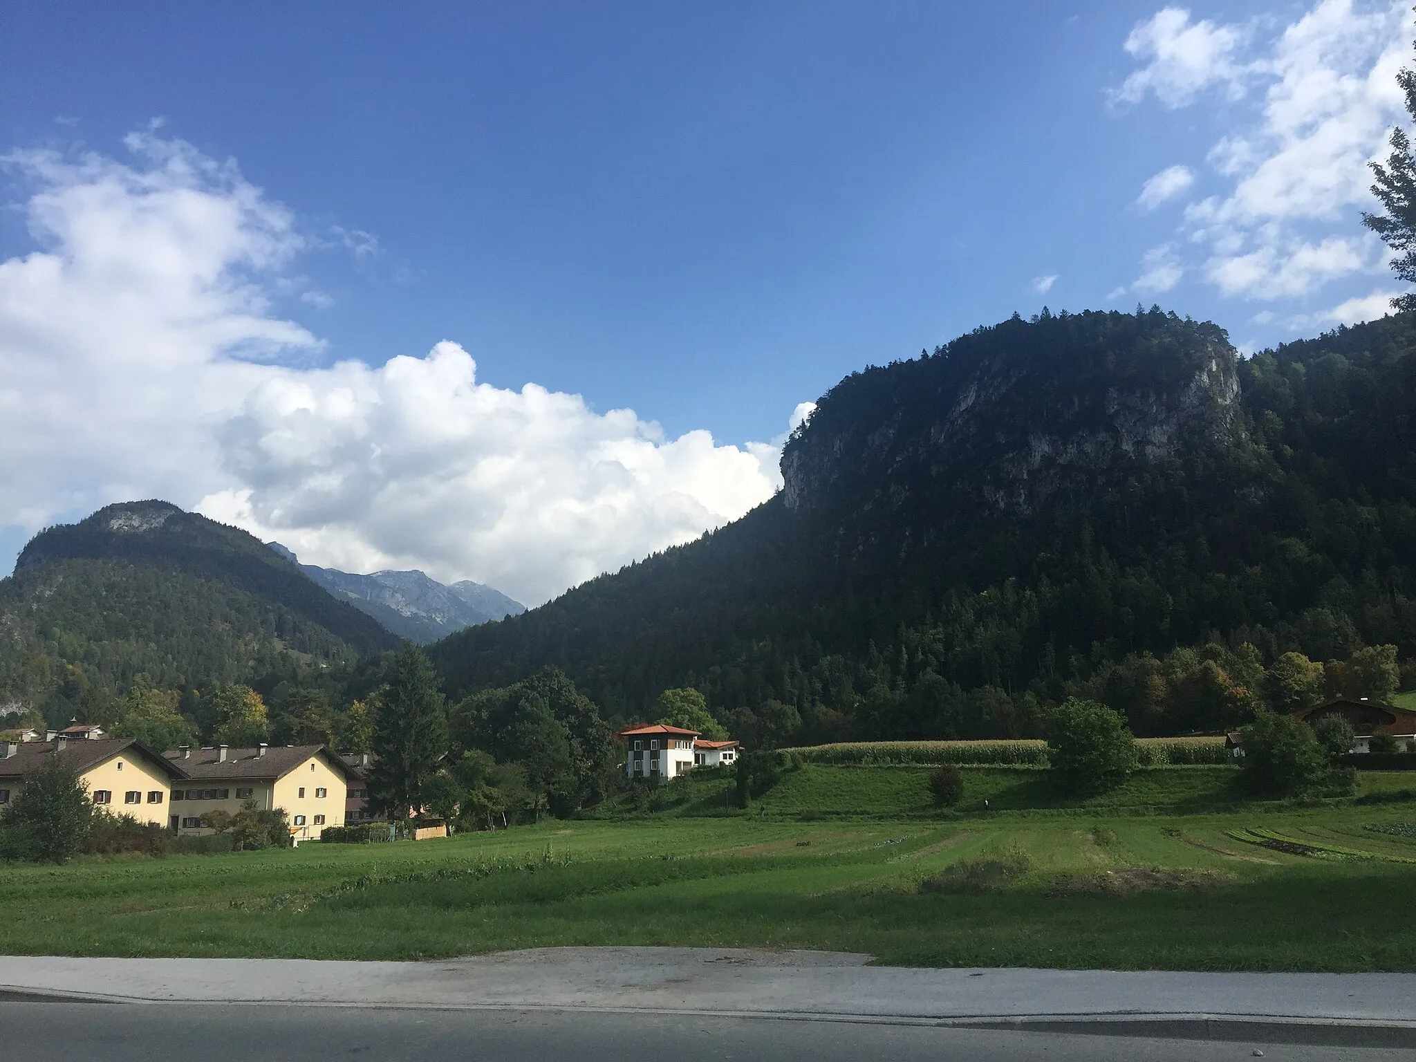
[[40, 532], [0, 581], [0, 709], [98, 718], [136, 675], [249, 683], [398, 641], [245, 531], [123, 503]]

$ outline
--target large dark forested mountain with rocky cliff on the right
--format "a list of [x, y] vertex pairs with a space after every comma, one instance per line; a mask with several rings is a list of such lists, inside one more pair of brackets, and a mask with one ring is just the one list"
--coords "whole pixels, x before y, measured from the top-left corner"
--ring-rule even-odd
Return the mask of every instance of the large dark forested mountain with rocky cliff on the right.
[[626, 718], [695, 685], [749, 739], [1073, 692], [1214, 729], [1286, 651], [1416, 657], [1413, 413], [1416, 314], [1246, 360], [1158, 309], [1014, 317], [841, 381], [745, 518], [430, 651], [453, 695], [555, 664]]

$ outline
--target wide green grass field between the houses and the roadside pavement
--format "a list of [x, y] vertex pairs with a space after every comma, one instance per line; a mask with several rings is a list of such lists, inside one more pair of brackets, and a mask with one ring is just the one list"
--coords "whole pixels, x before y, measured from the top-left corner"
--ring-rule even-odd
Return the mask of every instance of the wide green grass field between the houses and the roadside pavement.
[[[920, 966], [1416, 969], [1416, 929], [1392, 916], [1416, 885], [1416, 826], [1400, 826], [1416, 823], [1416, 801], [1231, 804], [1232, 772], [1170, 767], [1143, 772], [1110, 804], [1059, 807], [1038, 772], [978, 769], [967, 800], [993, 793], [993, 811], [927, 817], [926, 777], [804, 767], [767, 794], [765, 816], [6, 864], [0, 952], [433, 959], [702, 944]], [[1391, 793], [1416, 777], [1372, 773], [1362, 786]], [[1005, 807], [1029, 792], [1042, 806]], [[998, 862], [1022, 869], [980, 892], [922, 888], [950, 867]]]

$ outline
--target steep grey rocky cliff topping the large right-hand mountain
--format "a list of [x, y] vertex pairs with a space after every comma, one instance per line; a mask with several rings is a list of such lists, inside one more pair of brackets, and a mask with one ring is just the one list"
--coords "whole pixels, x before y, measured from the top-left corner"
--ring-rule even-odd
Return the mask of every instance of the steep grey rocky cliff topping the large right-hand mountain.
[[1235, 365], [1219, 329], [1164, 314], [1004, 321], [843, 381], [789, 440], [782, 500], [803, 514], [926, 498], [1029, 514], [1240, 440]]

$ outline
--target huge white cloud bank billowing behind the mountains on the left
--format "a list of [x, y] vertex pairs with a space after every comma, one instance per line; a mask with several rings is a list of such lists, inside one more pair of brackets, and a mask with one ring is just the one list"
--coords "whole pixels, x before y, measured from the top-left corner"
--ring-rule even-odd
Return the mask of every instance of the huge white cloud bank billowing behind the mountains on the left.
[[0, 262], [11, 524], [164, 497], [316, 564], [418, 566], [538, 603], [779, 486], [780, 442], [670, 439], [629, 409], [480, 384], [455, 343], [316, 364], [321, 343], [268, 295], [304, 245], [289, 211], [181, 142], [129, 147], [132, 164], [8, 157], [34, 184], [41, 248]]

